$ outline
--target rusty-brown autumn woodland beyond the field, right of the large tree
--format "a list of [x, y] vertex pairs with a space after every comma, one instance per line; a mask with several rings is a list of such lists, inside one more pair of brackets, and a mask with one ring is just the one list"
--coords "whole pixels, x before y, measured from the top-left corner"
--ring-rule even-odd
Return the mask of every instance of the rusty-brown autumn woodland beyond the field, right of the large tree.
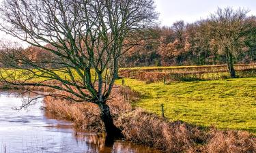
[[122, 67], [255, 63], [256, 18], [246, 14], [227, 7], [205, 20], [150, 29], [152, 37], [129, 50]]

